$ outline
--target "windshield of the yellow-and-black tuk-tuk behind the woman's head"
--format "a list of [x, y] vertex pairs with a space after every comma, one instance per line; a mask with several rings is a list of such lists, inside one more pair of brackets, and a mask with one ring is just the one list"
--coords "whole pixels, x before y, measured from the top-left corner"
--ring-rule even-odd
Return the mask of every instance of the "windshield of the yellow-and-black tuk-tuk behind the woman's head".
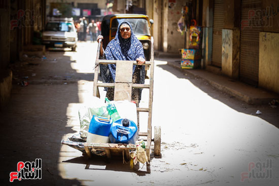
[[119, 23], [122, 21], [128, 21], [132, 25], [133, 33], [135, 35], [150, 35], [148, 21], [144, 18], [122, 18], [114, 19], [112, 21], [111, 36], [114, 37], [117, 32]]

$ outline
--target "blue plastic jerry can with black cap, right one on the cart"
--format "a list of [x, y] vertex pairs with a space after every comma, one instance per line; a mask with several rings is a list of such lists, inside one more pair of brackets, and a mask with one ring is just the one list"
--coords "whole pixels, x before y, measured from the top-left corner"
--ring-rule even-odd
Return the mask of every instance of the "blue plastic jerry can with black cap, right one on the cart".
[[138, 130], [132, 120], [119, 119], [111, 126], [110, 141], [112, 143], [135, 144], [138, 140]]

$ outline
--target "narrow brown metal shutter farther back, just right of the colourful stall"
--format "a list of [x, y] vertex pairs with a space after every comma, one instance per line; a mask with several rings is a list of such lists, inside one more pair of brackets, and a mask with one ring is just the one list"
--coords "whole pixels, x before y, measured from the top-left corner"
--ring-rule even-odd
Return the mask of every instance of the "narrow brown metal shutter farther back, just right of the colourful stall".
[[214, 1], [212, 65], [222, 66], [222, 29], [224, 26], [224, 0]]

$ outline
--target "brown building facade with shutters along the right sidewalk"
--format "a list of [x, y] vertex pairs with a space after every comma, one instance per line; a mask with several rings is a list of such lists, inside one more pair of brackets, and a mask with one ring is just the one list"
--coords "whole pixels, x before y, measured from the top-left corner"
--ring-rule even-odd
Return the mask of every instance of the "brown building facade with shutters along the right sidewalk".
[[203, 28], [202, 68], [279, 93], [279, 1], [146, 1], [155, 50], [187, 48], [188, 37], [177, 31], [186, 3]]

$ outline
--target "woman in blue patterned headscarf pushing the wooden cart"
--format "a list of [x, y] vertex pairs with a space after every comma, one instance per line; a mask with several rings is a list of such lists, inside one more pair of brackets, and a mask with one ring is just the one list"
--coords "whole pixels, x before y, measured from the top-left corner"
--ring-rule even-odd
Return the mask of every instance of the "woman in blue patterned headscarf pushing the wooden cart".
[[[97, 41], [103, 39], [102, 35], [98, 35]], [[145, 83], [145, 63], [143, 45], [132, 32], [132, 27], [129, 22], [124, 21], [118, 25], [115, 39], [107, 46], [103, 52], [102, 42], [100, 47], [100, 59], [109, 60], [132, 60], [137, 61], [139, 65], [133, 65], [132, 83]], [[115, 64], [100, 64], [100, 74], [104, 83], [115, 82]], [[114, 99], [114, 88], [105, 88], [109, 100]], [[132, 89], [131, 100], [140, 103], [143, 89]]]

